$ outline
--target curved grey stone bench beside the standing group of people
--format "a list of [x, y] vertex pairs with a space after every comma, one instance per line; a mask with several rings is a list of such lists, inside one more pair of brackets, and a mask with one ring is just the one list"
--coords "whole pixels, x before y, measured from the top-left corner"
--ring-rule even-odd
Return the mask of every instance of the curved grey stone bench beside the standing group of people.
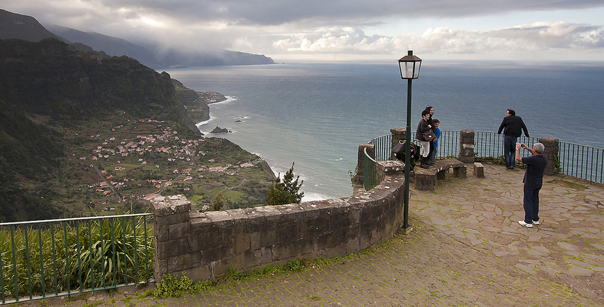
[[453, 176], [466, 178], [467, 167], [457, 159], [437, 160], [429, 169], [415, 167], [415, 190], [433, 191], [434, 185], [439, 180], [445, 180], [448, 169], [451, 168], [453, 169]]

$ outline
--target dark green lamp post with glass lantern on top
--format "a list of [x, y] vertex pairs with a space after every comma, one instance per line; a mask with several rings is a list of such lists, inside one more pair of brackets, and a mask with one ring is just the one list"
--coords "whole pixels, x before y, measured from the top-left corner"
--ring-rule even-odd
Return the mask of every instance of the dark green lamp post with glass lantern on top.
[[401, 78], [407, 79], [407, 130], [405, 132], [405, 198], [403, 215], [403, 229], [409, 229], [409, 172], [411, 165], [411, 81], [419, 78], [421, 58], [413, 55], [413, 51], [407, 51], [407, 55], [399, 60]]

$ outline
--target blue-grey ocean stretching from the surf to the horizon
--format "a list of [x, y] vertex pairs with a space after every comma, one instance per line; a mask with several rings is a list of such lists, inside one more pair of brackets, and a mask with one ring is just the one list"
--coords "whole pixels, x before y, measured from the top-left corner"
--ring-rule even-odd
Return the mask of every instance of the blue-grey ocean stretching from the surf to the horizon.
[[[392, 63], [283, 63], [169, 69], [210, 104], [206, 136], [227, 138], [303, 180], [303, 201], [348, 197], [358, 145], [406, 126], [407, 81]], [[412, 81], [414, 129], [426, 106], [442, 131], [498, 130], [507, 108], [535, 137], [604, 148], [604, 63], [563, 65], [423, 60]], [[209, 133], [213, 128], [231, 133]]]

